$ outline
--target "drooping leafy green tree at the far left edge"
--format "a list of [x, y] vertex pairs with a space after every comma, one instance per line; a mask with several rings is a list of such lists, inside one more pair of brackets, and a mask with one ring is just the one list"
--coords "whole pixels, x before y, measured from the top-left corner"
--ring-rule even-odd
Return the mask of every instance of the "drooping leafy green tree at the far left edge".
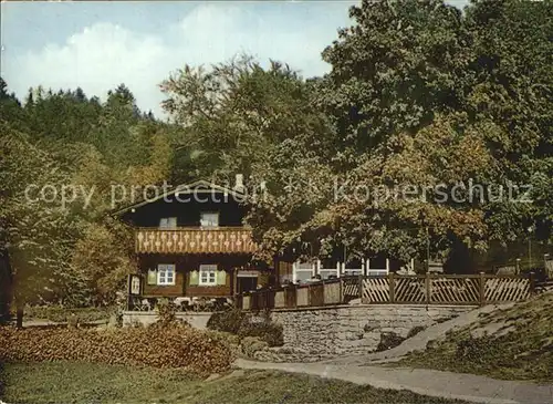
[[66, 180], [51, 156], [8, 125], [0, 131], [0, 251], [8, 257], [21, 327], [25, 302], [41, 301], [62, 288], [80, 227], [55, 201], [44, 200], [51, 195], [36, 195], [44, 186], [60, 189]]

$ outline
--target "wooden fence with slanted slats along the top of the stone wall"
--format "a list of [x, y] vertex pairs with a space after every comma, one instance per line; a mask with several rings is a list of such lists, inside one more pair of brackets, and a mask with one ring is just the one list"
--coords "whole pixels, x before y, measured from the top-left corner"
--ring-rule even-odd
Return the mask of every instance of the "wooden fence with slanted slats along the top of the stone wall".
[[366, 304], [474, 304], [515, 302], [528, 299], [535, 289], [533, 273], [426, 274], [346, 277], [303, 286], [264, 289], [237, 297], [244, 310], [293, 309], [344, 304], [361, 299]]

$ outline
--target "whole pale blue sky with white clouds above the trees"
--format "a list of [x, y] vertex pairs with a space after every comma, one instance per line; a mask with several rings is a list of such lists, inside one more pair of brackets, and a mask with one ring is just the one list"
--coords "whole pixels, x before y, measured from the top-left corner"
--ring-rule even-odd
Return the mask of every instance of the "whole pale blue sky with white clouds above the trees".
[[286, 62], [304, 77], [328, 72], [321, 52], [351, 25], [347, 10], [359, 2], [3, 1], [0, 75], [21, 100], [38, 85], [81, 86], [105, 100], [125, 83], [140, 110], [164, 117], [157, 84], [185, 64], [246, 52], [265, 65]]

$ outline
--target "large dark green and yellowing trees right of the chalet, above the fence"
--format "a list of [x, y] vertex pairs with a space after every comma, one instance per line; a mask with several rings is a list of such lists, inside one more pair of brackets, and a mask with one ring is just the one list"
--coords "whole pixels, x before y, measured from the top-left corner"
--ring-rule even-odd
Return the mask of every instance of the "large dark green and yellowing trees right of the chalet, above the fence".
[[[270, 169], [255, 170], [258, 180], [268, 178], [248, 217], [261, 258], [346, 248], [340, 258], [407, 261], [426, 258], [429, 241], [432, 257], [474, 270], [476, 252], [502, 246], [504, 259], [529, 226], [530, 237], [551, 244], [551, 6], [476, 1], [465, 13], [440, 0], [353, 7], [353, 25], [323, 53], [331, 72], [313, 85], [315, 105], [331, 117], [333, 157], [317, 159], [323, 148], [312, 158], [291, 143], [292, 158], [281, 153], [273, 162], [268, 153]], [[300, 186], [290, 190], [288, 177]], [[503, 198], [482, 197], [471, 183], [495, 196], [503, 187]], [[344, 195], [335, 184], [347, 185]], [[532, 185], [534, 201], [505, 200], [510, 184]]]

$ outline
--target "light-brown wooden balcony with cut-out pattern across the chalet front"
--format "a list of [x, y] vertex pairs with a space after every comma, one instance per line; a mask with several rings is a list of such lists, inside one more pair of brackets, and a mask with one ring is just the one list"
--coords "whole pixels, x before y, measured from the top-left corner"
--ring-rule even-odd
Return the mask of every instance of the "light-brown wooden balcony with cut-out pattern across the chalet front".
[[251, 230], [243, 227], [136, 230], [138, 253], [251, 253], [255, 249]]

